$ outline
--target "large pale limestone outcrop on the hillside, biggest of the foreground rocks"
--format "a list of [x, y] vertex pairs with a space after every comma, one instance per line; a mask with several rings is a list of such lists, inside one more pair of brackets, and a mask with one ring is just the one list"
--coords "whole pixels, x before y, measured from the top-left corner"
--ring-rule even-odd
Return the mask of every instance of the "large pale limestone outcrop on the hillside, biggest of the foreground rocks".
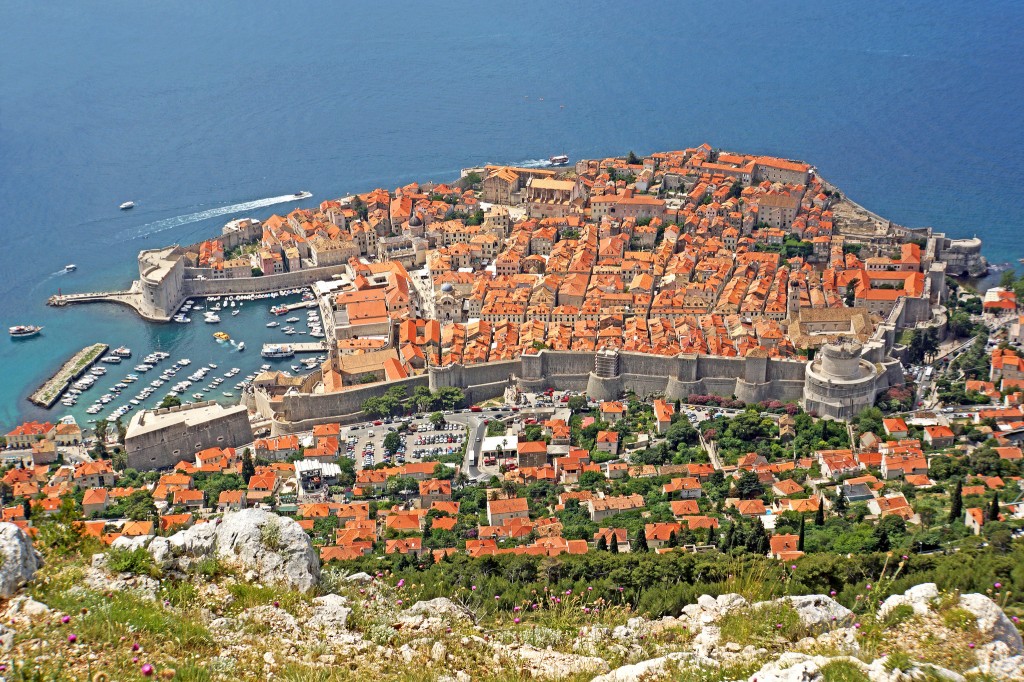
[[224, 514], [170, 538], [155, 538], [147, 549], [165, 570], [186, 570], [212, 556], [250, 581], [283, 583], [302, 592], [319, 582], [319, 559], [298, 522], [261, 509]]

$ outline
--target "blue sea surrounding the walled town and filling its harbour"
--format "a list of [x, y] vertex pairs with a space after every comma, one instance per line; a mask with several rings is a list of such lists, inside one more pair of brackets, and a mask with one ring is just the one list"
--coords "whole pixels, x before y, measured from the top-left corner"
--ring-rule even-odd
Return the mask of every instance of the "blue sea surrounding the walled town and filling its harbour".
[[[708, 141], [806, 160], [897, 222], [1024, 256], [1019, 0], [4, 0], [0, 26], [0, 325], [45, 326], [0, 340], [3, 430], [65, 414], [26, 396], [88, 343], [245, 374], [283, 339], [266, 306], [152, 325], [46, 307], [58, 290], [126, 287], [139, 249], [233, 217], [486, 162]], [[299, 189], [314, 198], [230, 208]], [[214, 329], [251, 350], [227, 355]]]

